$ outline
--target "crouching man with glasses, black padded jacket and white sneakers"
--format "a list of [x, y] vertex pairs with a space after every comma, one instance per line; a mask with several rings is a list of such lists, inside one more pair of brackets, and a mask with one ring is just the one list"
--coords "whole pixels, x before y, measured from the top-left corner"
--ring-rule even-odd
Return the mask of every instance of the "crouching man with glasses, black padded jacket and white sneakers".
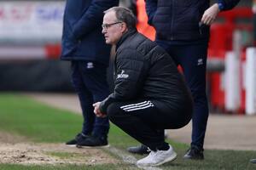
[[158, 166], [177, 154], [165, 142], [164, 129], [184, 127], [192, 114], [192, 98], [172, 57], [137, 32], [127, 8], [105, 11], [102, 33], [116, 45], [114, 92], [94, 104], [96, 116], [109, 117], [151, 150], [137, 166]]

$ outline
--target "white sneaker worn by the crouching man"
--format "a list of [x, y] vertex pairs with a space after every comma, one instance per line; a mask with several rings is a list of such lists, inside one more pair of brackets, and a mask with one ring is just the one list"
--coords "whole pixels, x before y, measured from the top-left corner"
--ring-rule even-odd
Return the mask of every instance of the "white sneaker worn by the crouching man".
[[147, 157], [137, 161], [138, 167], [150, 167], [150, 166], [159, 166], [167, 161], [173, 161], [177, 157], [177, 153], [172, 149], [172, 146], [169, 145], [169, 150], [156, 150], [151, 151]]

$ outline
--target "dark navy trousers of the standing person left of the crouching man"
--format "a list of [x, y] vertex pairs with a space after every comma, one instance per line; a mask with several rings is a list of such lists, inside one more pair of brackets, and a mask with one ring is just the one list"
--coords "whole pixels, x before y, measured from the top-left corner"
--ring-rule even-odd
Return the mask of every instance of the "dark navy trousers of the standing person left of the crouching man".
[[91, 61], [72, 62], [72, 82], [79, 95], [83, 111], [82, 133], [98, 138], [107, 138], [108, 117], [96, 117], [93, 104], [105, 99], [108, 94], [107, 65]]

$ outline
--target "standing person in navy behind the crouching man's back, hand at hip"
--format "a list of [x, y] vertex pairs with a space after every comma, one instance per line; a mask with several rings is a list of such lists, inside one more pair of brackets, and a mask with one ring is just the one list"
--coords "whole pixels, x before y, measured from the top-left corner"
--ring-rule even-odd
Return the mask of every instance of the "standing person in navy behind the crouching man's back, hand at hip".
[[[146, 0], [148, 24], [156, 30], [156, 42], [172, 56], [193, 95], [192, 142], [185, 159], [204, 159], [207, 130], [207, 48], [210, 25], [220, 11], [234, 8], [239, 0]], [[138, 146], [139, 147], [139, 146]], [[141, 153], [146, 147], [137, 149]]]

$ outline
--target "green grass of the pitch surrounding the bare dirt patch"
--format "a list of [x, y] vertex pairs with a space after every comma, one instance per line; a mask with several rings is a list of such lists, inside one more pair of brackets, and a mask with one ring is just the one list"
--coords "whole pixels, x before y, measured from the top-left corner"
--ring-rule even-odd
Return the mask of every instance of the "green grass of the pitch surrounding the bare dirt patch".
[[[82, 116], [73, 114], [69, 111], [61, 111], [47, 105], [42, 105], [32, 99], [18, 94], [0, 94], [0, 131], [15, 133], [25, 136], [33, 142], [63, 143], [67, 139], [73, 138], [73, 135], [81, 129]], [[136, 140], [131, 139], [113, 124], [110, 128], [109, 143], [121, 150], [126, 147], [138, 144]], [[235, 151], [235, 150], [205, 150], [204, 161], [184, 161], [182, 156], [188, 149], [187, 144], [177, 143], [168, 140], [175, 150], [178, 157], [176, 161], [161, 166], [162, 169], [172, 170], [244, 170], [256, 169], [256, 165], [249, 162], [251, 158], [256, 157], [255, 151]], [[255, 141], [256, 142], [256, 141]], [[106, 151], [106, 150], [105, 150]], [[108, 151], [107, 151], [108, 153]], [[58, 156], [67, 159], [73, 156], [72, 153], [51, 152], [49, 155]], [[80, 155], [74, 155], [80, 156]], [[109, 154], [112, 156], [112, 154]], [[142, 156], [136, 156], [141, 158]], [[22, 169], [137, 169], [135, 166], [121, 163], [118, 165], [96, 165], [96, 166], [78, 166], [78, 165], [58, 165], [58, 166], [23, 166], [0, 164], [0, 169], [22, 170]]]

